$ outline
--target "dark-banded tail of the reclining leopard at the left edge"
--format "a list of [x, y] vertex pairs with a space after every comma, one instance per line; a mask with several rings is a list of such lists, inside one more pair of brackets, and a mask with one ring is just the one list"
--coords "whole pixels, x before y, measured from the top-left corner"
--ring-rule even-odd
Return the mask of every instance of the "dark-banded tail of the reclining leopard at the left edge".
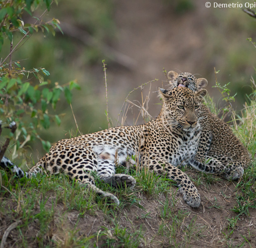
[[42, 173], [43, 170], [38, 165], [33, 166], [28, 172], [24, 172], [19, 168], [17, 165], [14, 165], [12, 161], [9, 160], [9, 158], [3, 156], [0, 161], [0, 167], [2, 167], [5, 170], [10, 170], [12, 173], [14, 173], [17, 177], [28, 177], [31, 178], [32, 176], [36, 175], [38, 172]]

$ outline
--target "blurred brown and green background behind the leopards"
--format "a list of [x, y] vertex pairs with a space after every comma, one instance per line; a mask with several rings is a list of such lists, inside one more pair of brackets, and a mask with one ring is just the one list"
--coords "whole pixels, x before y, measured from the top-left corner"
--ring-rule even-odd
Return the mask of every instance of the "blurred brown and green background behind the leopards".
[[[230, 1], [222, 1], [221, 3]], [[245, 3], [247, 1], [240, 1]], [[116, 125], [124, 99], [134, 87], [155, 78], [152, 83], [149, 113], [159, 113], [158, 87], [168, 87], [163, 68], [168, 72], [188, 71], [208, 80], [207, 90], [221, 104], [215, 85], [214, 67], [221, 84], [230, 83], [237, 92], [235, 108], [242, 109], [245, 94], [251, 92], [255, 75], [256, 51], [247, 40], [256, 41], [256, 19], [241, 8], [205, 7], [198, 0], [59, 0], [45, 18], [59, 19], [63, 33], [43, 36], [33, 33], [14, 53], [21, 67], [44, 67], [47, 80], [67, 83], [76, 80], [80, 91], [73, 91], [73, 111], [81, 132], [107, 128], [105, 81], [102, 60], [107, 64], [109, 115]], [[256, 9], [255, 9], [256, 11]], [[43, 10], [38, 10], [38, 14]], [[24, 22], [31, 17], [24, 17]], [[15, 44], [14, 40], [14, 44]], [[8, 54], [5, 44], [0, 57]], [[22, 60], [24, 59], [24, 60]], [[149, 85], [143, 90], [143, 97]], [[140, 90], [130, 100], [141, 102]], [[136, 103], [136, 102], [135, 102]], [[136, 103], [138, 104], [138, 103]], [[64, 113], [60, 127], [43, 131], [45, 139], [56, 142], [76, 131], [70, 106], [57, 106]], [[127, 125], [137, 118], [138, 109], [128, 113]], [[137, 124], [142, 123], [139, 120]], [[32, 148], [35, 150], [35, 148]], [[37, 148], [36, 148], [37, 150]], [[38, 149], [38, 156], [43, 155]]]

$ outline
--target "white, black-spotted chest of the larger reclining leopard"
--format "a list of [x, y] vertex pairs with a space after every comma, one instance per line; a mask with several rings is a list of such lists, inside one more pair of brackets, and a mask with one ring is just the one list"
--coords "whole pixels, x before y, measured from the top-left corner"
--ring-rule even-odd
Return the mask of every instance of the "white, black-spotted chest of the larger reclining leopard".
[[185, 165], [194, 158], [198, 144], [200, 132], [187, 132], [176, 140], [175, 151], [170, 154], [169, 162], [175, 166]]

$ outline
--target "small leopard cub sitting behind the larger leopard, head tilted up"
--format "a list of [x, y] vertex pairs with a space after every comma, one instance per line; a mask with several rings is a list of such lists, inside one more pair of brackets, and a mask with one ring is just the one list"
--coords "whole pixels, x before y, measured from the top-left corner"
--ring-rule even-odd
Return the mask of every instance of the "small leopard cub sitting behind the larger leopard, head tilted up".
[[[191, 73], [168, 72], [171, 89], [188, 87], [197, 92], [206, 87], [205, 78], [195, 78]], [[197, 154], [190, 161], [194, 168], [218, 173], [227, 179], [235, 180], [244, 174], [244, 168], [250, 163], [250, 156], [242, 142], [232, 133], [231, 128], [205, 106], [201, 106], [201, 136]], [[207, 165], [202, 165], [209, 160]], [[201, 162], [201, 163], [200, 163]], [[221, 172], [222, 171], [222, 172]]]

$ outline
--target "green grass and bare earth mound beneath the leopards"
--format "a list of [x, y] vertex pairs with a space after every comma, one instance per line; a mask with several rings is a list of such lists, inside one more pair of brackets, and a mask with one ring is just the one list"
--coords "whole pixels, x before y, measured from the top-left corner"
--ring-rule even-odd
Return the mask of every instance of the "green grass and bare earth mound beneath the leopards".
[[[216, 175], [185, 171], [201, 194], [201, 206], [190, 208], [175, 183], [147, 168], [130, 168], [134, 189], [113, 188], [96, 178], [120, 205], [107, 202], [65, 175], [37, 175], [18, 180], [0, 170], [0, 239], [9, 246], [46, 248], [254, 247], [256, 231], [256, 101], [247, 105], [233, 131], [252, 154], [252, 164], [235, 182]], [[239, 123], [238, 123], [239, 120]], [[117, 173], [126, 173], [122, 166]], [[209, 242], [211, 237], [211, 242]]]

